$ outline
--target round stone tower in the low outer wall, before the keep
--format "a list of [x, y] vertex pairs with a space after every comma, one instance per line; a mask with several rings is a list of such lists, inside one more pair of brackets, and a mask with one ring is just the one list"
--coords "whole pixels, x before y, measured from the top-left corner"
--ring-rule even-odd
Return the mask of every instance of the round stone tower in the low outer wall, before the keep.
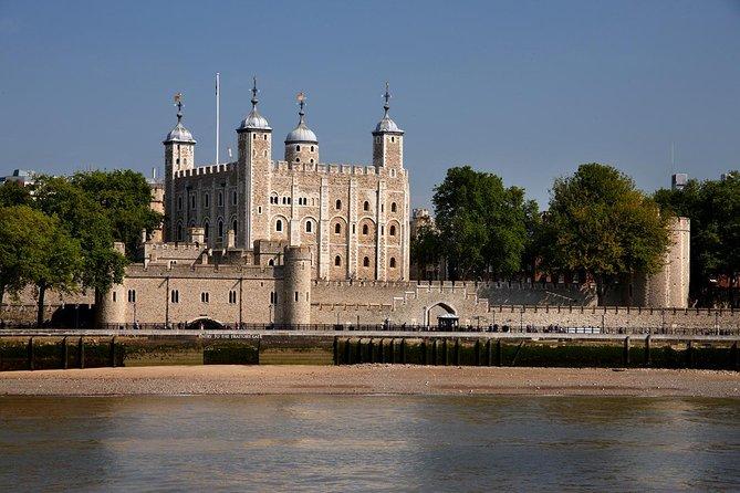
[[283, 324], [310, 324], [311, 250], [285, 246], [283, 265]]

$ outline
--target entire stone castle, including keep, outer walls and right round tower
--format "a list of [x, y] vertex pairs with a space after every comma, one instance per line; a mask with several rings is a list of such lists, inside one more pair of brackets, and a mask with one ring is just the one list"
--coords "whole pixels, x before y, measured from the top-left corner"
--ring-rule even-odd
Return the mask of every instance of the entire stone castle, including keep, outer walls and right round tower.
[[[273, 160], [272, 128], [257, 95], [254, 85], [251, 112], [237, 128], [236, 161], [207, 166], [196, 166], [196, 140], [178, 102], [177, 125], [163, 143], [164, 183], [153, 183], [163, 229], [144, 238], [144, 261], [103, 297], [100, 323], [435, 325], [449, 315], [465, 325], [625, 323], [624, 312], [596, 308], [593, 290], [582, 284], [409, 279], [416, 221], [405, 134], [388, 115], [387, 86], [367, 166], [320, 161], [302, 94], [284, 159]], [[619, 302], [650, 307], [646, 324], [666, 323], [653, 308], [687, 305], [688, 220], [679, 219], [673, 234], [664, 271], [635, 280]], [[84, 303], [79, 297], [60, 302]], [[626, 313], [629, 324], [635, 312]]]

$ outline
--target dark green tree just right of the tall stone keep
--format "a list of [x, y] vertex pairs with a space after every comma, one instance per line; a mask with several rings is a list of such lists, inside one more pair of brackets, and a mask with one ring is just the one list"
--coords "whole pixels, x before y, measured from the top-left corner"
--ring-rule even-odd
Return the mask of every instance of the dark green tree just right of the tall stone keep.
[[511, 275], [527, 244], [524, 190], [469, 166], [450, 168], [432, 198], [452, 280]]

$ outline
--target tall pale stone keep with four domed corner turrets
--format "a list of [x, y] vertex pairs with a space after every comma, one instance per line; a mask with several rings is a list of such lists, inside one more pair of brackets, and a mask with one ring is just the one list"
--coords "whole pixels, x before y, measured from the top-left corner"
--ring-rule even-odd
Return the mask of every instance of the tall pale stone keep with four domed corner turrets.
[[[299, 94], [299, 122], [273, 159], [273, 132], [252, 108], [237, 128], [237, 160], [198, 166], [196, 139], [177, 125], [165, 147], [164, 241], [230, 250], [246, 263], [282, 263], [304, 246], [316, 280], [402, 281], [409, 276], [409, 189], [404, 130], [388, 115], [372, 132], [371, 165], [325, 164]], [[176, 259], [173, 259], [176, 261]]]

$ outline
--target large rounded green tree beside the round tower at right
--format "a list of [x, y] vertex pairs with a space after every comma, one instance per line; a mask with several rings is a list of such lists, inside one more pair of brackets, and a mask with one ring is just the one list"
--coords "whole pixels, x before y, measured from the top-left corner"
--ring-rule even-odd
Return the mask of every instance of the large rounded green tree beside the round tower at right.
[[542, 231], [546, 269], [590, 275], [600, 304], [618, 279], [660, 270], [668, 218], [629, 177], [611, 166], [582, 165], [555, 179], [551, 193]]

